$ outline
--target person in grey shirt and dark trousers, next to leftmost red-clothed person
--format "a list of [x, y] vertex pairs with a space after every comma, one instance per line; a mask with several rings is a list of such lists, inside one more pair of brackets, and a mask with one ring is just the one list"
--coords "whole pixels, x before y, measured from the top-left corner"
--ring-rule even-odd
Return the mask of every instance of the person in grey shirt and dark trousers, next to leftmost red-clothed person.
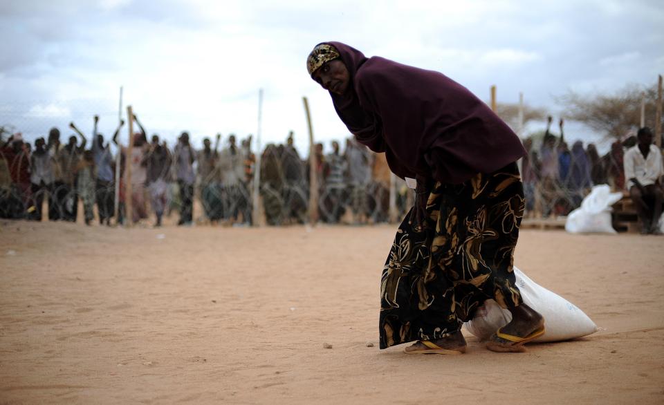
[[35, 140], [35, 151], [30, 156], [30, 183], [32, 183], [33, 201], [28, 208], [32, 220], [42, 220], [44, 195], [53, 194], [53, 166], [55, 161], [48, 153], [44, 138]]

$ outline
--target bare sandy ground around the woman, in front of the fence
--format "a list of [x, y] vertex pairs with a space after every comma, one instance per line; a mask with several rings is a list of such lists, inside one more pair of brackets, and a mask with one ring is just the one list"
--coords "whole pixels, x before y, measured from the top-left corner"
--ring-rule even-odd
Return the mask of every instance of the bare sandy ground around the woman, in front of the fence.
[[2, 222], [0, 404], [664, 402], [664, 237], [524, 230], [515, 263], [600, 331], [408, 356], [378, 350], [394, 229]]

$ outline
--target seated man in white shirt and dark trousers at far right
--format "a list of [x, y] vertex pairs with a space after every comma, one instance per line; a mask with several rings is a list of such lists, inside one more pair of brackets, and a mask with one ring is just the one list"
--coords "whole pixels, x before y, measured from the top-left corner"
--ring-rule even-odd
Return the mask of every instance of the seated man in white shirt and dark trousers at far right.
[[662, 153], [652, 144], [649, 128], [639, 129], [636, 136], [638, 143], [625, 152], [624, 158], [629, 195], [641, 220], [641, 234], [661, 234], [658, 224], [664, 201], [660, 180], [664, 175]]

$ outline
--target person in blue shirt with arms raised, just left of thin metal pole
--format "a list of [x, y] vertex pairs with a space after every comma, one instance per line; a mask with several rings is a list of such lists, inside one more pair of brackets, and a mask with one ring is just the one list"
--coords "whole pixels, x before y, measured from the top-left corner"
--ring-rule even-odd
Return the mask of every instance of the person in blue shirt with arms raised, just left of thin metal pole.
[[[95, 200], [97, 201], [97, 211], [99, 214], [100, 225], [106, 223], [111, 225], [111, 218], [113, 218], [115, 211], [115, 178], [113, 172], [113, 156], [111, 155], [111, 145], [108, 143], [104, 146], [104, 135], [97, 132], [97, 125], [99, 122], [99, 115], [95, 115], [95, 126], [92, 135], [92, 156], [95, 163]], [[113, 143], [118, 144], [118, 134], [120, 128], [124, 125], [124, 121], [120, 120], [120, 124], [113, 133]]]

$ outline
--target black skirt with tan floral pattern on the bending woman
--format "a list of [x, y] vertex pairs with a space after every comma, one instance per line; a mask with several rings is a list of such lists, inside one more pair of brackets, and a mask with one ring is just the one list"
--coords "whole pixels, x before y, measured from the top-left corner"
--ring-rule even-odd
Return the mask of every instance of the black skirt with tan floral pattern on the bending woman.
[[486, 299], [520, 305], [513, 254], [523, 214], [516, 163], [459, 185], [436, 183], [425, 226], [407, 214], [385, 262], [380, 348], [451, 335]]

